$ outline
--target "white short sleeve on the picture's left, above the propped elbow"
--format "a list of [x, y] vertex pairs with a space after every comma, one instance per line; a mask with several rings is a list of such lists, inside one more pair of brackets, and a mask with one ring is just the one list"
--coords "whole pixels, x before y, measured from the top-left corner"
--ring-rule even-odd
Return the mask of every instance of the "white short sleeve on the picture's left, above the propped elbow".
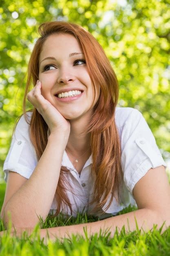
[[[30, 119], [31, 112], [27, 112], [27, 115]], [[4, 161], [3, 171], [5, 182], [7, 182], [9, 171], [14, 171], [29, 179], [37, 163], [35, 148], [30, 141], [29, 124], [27, 124], [22, 115], [16, 125], [9, 152]]]

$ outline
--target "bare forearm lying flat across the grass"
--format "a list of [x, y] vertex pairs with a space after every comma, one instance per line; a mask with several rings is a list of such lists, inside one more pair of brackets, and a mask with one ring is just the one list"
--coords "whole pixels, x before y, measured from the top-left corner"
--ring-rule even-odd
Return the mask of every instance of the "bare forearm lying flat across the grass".
[[[49, 238], [55, 241], [56, 238], [59, 238], [61, 241], [63, 238], [69, 238], [71, 234], [79, 234], [85, 238], [84, 229], [87, 231], [88, 238], [95, 233], [99, 234], [100, 229], [102, 234], [105, 231], [111, 232], [110, 237], [112, 238], [115, 234], [116, 227], [117, 231], [120, 232], [122, 227], [125, 226], [125, 230], [132, 232], [137, 230], [135, 218], [137, 220], [138, 228], [141, 229], [141, 234], [153, 228], [154, 224], [157, 224], [157, 229], [163, 225], [164, 218], [159, 216], [158, 213], [151, 211], [149, 209], [139, 209], [130, 213], [125, 213], [119, 216], [114, 216], [107, 218], [105, 220], [99, 220], [97, 222], [65, 226], [65, 227], [53, 227], [48, 229], [41, 229], [41, 238], [47, 240], [46, 234], [49, 233]], [[166, 218], [165, 218], [166, 220]], [[163, 226], [162, 232], [170, 225], [170, 220], [166, 220], [165, 225]], [[144, 230], [144, 231], [143, 231]], [[56, 237], [56, 238], [55, 238]]]

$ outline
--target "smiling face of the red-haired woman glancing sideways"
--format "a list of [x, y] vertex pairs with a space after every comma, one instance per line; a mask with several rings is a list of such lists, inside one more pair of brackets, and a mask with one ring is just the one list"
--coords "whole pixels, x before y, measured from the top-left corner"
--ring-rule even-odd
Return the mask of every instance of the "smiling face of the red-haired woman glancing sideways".
[[[66, 119], [92, 114], [99, 99], [100, 87], [95, 85], [95, 95], [82, 47], [74, 36], [53, 34], [46, 39], [39, 59], [39, 80], [44, 98]], [[66, 92], [74, 88], [83, 91], [77, 99], [70, 101], [71, 98], [66, 98], [69, 101], [65, 102], [56, 97], [59, 91]]]

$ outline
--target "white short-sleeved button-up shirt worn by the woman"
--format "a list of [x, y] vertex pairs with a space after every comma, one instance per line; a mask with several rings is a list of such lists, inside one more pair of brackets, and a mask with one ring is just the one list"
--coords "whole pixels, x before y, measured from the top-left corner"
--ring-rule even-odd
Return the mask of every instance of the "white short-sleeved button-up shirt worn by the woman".
[[[32, 112], [27, 112], [27, 115], [30, 120]], [[121, 187], [121, 203], [117, 204], [114, 198], [106, 211], [105, 208], [109, 202], [108, 198], [108, 201], [102, 208], [105, 213], [100, 216], [100, 219], [116, 215], [119, 211], [128, 207], [129, 204], [137, 207], [132, 194], [135, 184], [150, 168], [156, 168], [161, 165], [167, 167], [157, 147], [155, 137], [139, 110], [135, 108], [116, 107], [115, 123], [119, 131], [121, 167], [124, 172], [124, 182]], [[16, 126], [15, 136], [13, 135], [12, 137], [11, 146], [4, 162], [3, 171], [5, 173], [5, 182], [7, 182], [8, 171], [14, 171], [29, 179], [37, 163], [35, 148], [31, 144], [29, 137], [29, 124], [26, 123], [24, 116], [22, 116]], [[73, 216], [76, 216], [77, 212], [86, 212], [88, 214], [88, 211], [91, 209], [91, 206], [88, 205], [88, 202], [92, 199], [94, 186], [94, 181], [92, 181], [90, 175], [91, 165], [92, 154], [86, 161], [79, 177], [64, 150], [62, 166], [67, 166], [68, 169], [74, 169], [66, 174], [76, 194], [67, 192], [72, 204]], [[53, 209], [55, 212], [55, 198], [51, 205], [50, 214]], [[70, 209], [67, 208], [67, 210], [68, 214], [71, 215]]]

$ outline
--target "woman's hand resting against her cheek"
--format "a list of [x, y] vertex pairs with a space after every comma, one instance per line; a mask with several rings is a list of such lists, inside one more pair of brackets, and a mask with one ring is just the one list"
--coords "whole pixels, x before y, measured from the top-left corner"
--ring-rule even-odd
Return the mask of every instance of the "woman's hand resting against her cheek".
[[27, 99], [33, 104], [38, 112], [44, 118], [48, 125], [50, 132], [68, 132], [70, 135], [70, 122], [65, 119], [60, 112], [41, 94], [41, 82], [37, 80], [37, 83], [33, 90], [27, 94]]

